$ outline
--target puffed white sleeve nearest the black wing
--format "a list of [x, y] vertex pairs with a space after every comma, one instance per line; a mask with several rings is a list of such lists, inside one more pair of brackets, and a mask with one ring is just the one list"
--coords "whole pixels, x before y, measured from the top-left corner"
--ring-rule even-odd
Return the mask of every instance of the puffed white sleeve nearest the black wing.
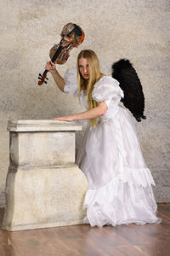
[[105, 102], [107, 107], [112, 101], [119, 102], [123, 96], [123, 91], [116, 79], [105, 76], [94, 84], [92, 98], [96, 102]]

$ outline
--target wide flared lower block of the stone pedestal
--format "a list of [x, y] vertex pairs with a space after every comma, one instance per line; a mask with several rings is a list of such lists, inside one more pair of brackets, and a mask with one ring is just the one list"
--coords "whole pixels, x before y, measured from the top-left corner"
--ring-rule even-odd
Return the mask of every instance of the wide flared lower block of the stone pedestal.
[[82, 224], [87, 181], [76, 165], [8, 169], [4, 230]]

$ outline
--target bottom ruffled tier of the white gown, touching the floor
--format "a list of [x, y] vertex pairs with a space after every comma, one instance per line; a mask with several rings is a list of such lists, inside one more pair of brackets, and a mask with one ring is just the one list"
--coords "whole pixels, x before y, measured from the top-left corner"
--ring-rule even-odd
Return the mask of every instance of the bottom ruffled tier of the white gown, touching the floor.
[[149, 184], [143, 187], [119, 181], [97, 191], [88, 190], [84, 207], [87, 208], [84, 223], [92, 227], [161, 223], [161, 218], [156, 217], [156, 199]]

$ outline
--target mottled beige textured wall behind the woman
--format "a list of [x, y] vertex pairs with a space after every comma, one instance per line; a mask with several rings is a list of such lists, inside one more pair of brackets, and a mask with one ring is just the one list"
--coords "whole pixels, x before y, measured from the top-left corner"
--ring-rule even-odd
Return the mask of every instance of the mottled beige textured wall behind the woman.
[[[59, 43], [67, 22], [82, 26], [86, 38], [72, 49], [65, 68], [76, 65], [81, 49], [94, 49], [102, 71], [126, 57], [143, 84], [145, 114], [135, 122], [144, 158], [156, 181], [156, 201], [170, 201], [169, 184], [169, 0], [1, 0], [0, 206], [8, 171], [8, 119], [51, 119], [82, 110], [77, 100], [48, 85], [37, 86], [48, 50]], [[77, 141], [82, 137], [78, 133]]]

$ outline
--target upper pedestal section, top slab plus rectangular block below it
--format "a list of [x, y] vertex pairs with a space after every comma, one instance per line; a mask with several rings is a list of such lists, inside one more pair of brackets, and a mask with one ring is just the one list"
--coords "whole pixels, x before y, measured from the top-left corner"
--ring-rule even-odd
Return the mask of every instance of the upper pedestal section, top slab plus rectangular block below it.
[[14, 166], [74, 164], [75, 131], [77, 130], [82, 130], [82, 126], [76, 122], [9, 121], [11, 164]]

